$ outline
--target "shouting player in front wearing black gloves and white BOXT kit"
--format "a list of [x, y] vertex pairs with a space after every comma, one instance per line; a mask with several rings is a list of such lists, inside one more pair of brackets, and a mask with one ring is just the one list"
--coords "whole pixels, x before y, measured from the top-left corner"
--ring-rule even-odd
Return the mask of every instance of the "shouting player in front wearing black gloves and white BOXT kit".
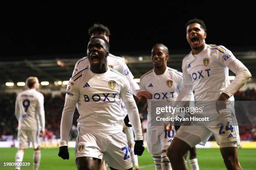
[[129, 81], [108, 67], [108, 50], [109, 43], [104, 37], [92, 37], [87, 46], [90, 65], [77, 72], [67, 85], [59, 156], [69, 159], [67, 140], [77, 104], [80, 116], [75, 159], [79, 170], [98, 169], [103, 154], [110, 169], [132, 169], [130, 148], [122, 132], [121, 99], [135, 132], [134, 153], [142, 155], [144, 150], [141, 122]]

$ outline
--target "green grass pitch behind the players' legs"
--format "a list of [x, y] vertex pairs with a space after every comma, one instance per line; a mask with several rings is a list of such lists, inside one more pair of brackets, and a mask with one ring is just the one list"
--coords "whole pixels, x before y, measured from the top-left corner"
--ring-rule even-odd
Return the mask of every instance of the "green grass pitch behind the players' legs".
[[[40, 170], [77, 170], [74, 163], [74, 148], [70, 148], [69, 160], [58, 157], [59, 148], [41, 149]], [[13, 170], [14, 167], [3, 167], [3, 162], [14, 162], [17, 148], [0, 148], [0, 170]], [[256, 170], [256, 149], [238, 149], [238, 156], [243, 170]], [[139, 156], [141, 170], [154, 170], [154, 161], [145, 150]], [[226, 170], [219, 149], [197, 149], [197, 159], [201, 170]], [[31, 166], [21, 170], [33, 170], [33, 149], [25, 150], [23, 162], [30, 162]]]

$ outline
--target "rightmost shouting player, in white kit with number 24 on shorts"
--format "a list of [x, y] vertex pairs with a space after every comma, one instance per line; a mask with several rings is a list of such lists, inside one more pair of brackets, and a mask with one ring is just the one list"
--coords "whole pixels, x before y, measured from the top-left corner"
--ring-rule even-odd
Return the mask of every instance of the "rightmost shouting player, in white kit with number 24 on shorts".
[[[196, 107], [204, 107], [203, 115], [211, 118], [211, 125], [181, 126], [167, 150], [174, 170], [185, 170], [184, 153], [198, 143], [206, 143], [213, 133], [225, 166], [241, 170], [237, 147], [240, 145], [234, 111], [234, 93], [251, 77], [248, 69], [221, 45], [207, 45], [206, 26], [197, 18], [186, 24], [187, 42], [192, 51], [182, 60], [183, 87], [178, 101], [195, 91]], [[230, 83], [228, 70], [236, 74]], [[207, 102], [208, 101], [208, 102]], [[202, 116], [195, 113], [195, 116]], [[224, 128], [223, 128], [224, 127]]]

